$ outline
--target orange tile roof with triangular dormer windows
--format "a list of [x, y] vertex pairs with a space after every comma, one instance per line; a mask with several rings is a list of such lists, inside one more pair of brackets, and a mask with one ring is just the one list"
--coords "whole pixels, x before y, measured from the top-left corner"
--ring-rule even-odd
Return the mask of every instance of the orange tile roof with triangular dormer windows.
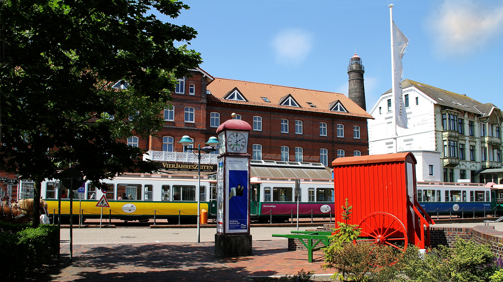
[[[234, 87], [237, 87], [239, 91], [248, 101], [236, 101], [236, 100], [226, 100], [223, 97], [229, 93]], [[355, 116], [372, 118], [373, 117], [353, 102], [344, 94], [325, 92], [318, 90], [309, 90], [296, 87], [272, 85], [258, 82], [249, 82], [243, 80], [234, 80], [227, 78], [215, 77], [211, 83], [208, 84], [207, 89], [210, 90], [210, 95], [208, 95], [208, 101], [218, 101], [231, 104], [242, 104], [251, 106], [262, 106], [262, 107], [272, 107], [272, 108], [282, 108], [291, 109], [298, 111], [309, 111], [309, 112], [320, 112], [329, 113], [337, 115]], [[292, 97], [301, 106], [283, 106], [280, 105], [280, 99], [286, 95], [291, 94]], [[268, 98], [271, 102], [265, 102], [261, 97]], [[338, 112], [331, 111], [329, 109], [329, 104], [333, 101], [340, 100], [341, 103], [346, 107], [349, 112]], [[311, 102], [316, 107], [311, 107], [307, 102]]]

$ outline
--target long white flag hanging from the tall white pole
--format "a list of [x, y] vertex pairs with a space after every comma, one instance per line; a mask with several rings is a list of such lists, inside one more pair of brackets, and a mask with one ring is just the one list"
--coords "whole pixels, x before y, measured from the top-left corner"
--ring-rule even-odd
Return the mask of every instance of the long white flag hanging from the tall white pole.
[[398, 29], [393, 22], [393, 100], [395, 102], [395, 122], [396, 125], [407, 128], [407, 113], [405, 111], [405, 102], [402, 94], [402, 57], [409, 40]]

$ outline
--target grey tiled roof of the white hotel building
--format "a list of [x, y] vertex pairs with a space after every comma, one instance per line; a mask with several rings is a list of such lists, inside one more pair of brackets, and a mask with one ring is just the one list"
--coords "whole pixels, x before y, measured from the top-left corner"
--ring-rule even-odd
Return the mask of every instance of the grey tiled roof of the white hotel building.
[[[475, 108], [475, 106], [478, 106], [482, 103], [466, 95], [461, 95], [435, 86], [416, 82], [410, 79], [402, 80], [402, 89], [412, 86], [428, 95], [437, 104], [480, 114], [479, 110]], [[391, 89], [386, 91], [384, 94], [388, 93], [391, 93]]]

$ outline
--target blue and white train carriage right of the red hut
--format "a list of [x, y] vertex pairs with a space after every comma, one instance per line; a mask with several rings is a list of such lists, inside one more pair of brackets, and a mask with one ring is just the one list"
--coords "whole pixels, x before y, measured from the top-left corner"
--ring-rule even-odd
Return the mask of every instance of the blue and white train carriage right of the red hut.
[[430, 214], [494, 214], [491, 189], [478, 183], [417, 182], [417, 202]]

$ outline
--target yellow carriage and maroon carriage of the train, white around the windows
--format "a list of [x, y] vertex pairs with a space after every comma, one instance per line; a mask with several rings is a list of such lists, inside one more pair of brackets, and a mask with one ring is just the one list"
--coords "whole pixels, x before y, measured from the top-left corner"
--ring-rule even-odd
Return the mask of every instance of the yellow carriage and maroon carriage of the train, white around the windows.
[[[254, 163], [255, 162], [255, 163]], [[251, 164], [250, 179], [251, 219], [260, 222], [284, 222], [297, 214], [297, 196], [294, 195], [295, 179], [301, 180], [300, 217], [333, 216], [333, 180], [331, 173], [321, 164], [254, 161]], [[269, 163], [266, 163], [269, 162]], [[285, 163], [285, 164], [283, 164]], [[260, 167], [260, 168], [259, 168]], [[254, 169], [255, 168], [255, 169]], [[302, 169], [302, 170], [299, 170]], [[280, 172], [280, 176], [268, 175], [268, 170]], [[256, 172], [254, 174], [254, 171]], [[263, 171], [265, 174], [257, 173]], [[302, 172], [301, 172], [302, 171]], [[316, 174], [309, 175], [309, 171]], [[307, 172], [307, 173], [306, 173]], [[300, 177], [298, 177], [300, 175]], [[315, 176], [316, 178], [314, 178]], [[183, 178], [176, 178], [183, 177]], [[216, 177], [201, 176], [201, 209], [208, 211], [208, 217], [216, 215]], [[204, 177], [204, 179], [203, 179]], [[110, 192], [106, 198], [110, 208], [103, 209], [103, 218], [132, 220], [168, 219], [169, 224], [195, 223], [197, 215], [197, 176], [164, 174], [125, 174], [107, 180]], [[57, 214], [58, 181], [42, 183], [42, 198], [48, 203], [48, 211]], [[62, 222], [69, 218], [68, 190], [62, 186]], [[92, 183], [85, 183], [85, 193], [80, 199], [75, 193], [73, 202], [74, 217], [81, 206], [83, 218], [100, 218], [101, 208], [96, 203], [103, 196], [100, 189]]]

